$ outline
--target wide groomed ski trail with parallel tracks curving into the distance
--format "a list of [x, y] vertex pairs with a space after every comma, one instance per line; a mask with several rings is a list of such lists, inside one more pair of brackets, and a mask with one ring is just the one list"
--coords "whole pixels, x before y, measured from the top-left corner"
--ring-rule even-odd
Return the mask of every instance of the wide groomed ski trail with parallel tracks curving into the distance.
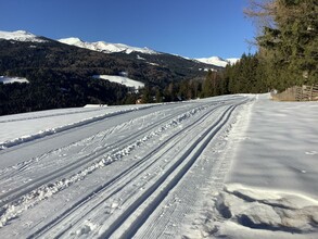
[[202, 190], [222, 180], [226, 135], [251, 100], [126, 110], [3, 149], [1, 238], [181, 236]]

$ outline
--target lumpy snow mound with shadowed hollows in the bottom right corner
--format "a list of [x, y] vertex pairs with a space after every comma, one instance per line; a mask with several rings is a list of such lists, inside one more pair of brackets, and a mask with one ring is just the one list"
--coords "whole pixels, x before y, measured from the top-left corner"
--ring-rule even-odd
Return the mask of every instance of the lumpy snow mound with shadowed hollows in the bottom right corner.
[[227, 185], [214, 198], [205, 232], [228, 238], [306, 238], [318, 234], [318, 201], [296, 192]]

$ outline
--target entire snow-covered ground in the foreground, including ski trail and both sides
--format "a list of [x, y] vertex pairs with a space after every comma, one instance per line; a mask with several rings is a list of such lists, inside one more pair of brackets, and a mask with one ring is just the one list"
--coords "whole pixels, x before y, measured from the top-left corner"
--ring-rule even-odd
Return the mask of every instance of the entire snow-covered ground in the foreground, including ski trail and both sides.
[[1, 116], [1, 238], [317, 238], [317, 118], [267, 95]]

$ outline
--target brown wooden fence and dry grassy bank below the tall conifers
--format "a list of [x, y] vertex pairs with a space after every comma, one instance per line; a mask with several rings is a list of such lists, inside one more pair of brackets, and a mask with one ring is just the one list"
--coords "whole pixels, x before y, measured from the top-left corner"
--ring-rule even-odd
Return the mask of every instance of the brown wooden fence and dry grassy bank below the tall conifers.
[[280, 93], [271, 93], [279, 101], [318, 101], [318, 85], [294, 86]]

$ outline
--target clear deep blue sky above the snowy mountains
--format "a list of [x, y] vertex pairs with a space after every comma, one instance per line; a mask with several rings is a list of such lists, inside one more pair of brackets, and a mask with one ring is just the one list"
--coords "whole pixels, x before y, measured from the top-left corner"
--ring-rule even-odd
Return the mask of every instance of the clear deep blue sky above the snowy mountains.
[[0, 30], [104, 40], [189, 58], [253, 52], [247, 0], [0, 0]]

